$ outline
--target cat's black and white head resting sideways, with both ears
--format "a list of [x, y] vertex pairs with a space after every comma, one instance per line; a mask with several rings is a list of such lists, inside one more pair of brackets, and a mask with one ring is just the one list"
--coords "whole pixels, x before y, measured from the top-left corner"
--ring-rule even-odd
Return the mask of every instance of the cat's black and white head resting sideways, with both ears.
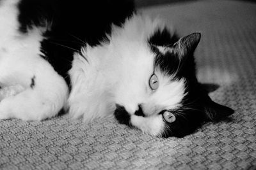
[[200, 37], [179, 39], [163, 29], [148, 38], [147, 56], [134, 62], [116, 89], [118, 122], [154, 136], [182, 137], [234, 112], [214, 103], [196, 79], [193, 53]]

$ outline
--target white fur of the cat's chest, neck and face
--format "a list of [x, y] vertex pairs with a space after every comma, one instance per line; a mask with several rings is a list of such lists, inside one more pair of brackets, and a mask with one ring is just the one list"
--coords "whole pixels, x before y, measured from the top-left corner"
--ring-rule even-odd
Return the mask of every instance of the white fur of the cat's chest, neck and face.
[[[88, 45], [82, 55], [76, 53], [68, 99], [72, 117], [83, 117], [86, 122], [106, 117], [119, 104], [131, 115], [132, 125], [152, 135], [163, 132], [163, 118], [158, 113], [177, 108], [186, 94], [184, 80], [170, 81], [170, 76], [154, 70], [156, 54], [147, 41], [157, 28], [163, 29], [160, 20], [134, 15], [123, 28], [113, 26], [109, 43]], [[160, 83], [156, 91], [148, 85], [153, 72]], [[134, 115], [139, 104], [147, 117]]]

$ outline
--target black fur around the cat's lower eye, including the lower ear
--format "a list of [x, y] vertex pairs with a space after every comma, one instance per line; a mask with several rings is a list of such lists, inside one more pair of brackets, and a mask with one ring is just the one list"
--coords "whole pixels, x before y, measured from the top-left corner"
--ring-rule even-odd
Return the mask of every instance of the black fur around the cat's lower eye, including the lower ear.
[[234, 113], [231, 108], [212, 101], [200, 83], [188, 80], [186, 87], [187, 95], [182, 99], [180, 108], [170, 111], [175, 115], [175, 121], [164, 122], [164, 138], [182, 138], [195, 132], [204, 122], [216, 122]]

